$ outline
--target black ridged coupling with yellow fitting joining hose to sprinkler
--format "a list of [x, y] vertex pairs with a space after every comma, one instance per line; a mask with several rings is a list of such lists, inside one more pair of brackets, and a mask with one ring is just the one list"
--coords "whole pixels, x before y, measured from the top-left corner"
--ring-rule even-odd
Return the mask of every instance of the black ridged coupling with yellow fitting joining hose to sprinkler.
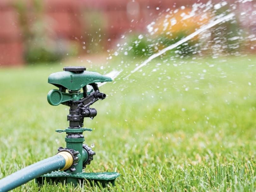
[[61, 155], [66, 160], [65, 166], [60, 169], [60, 171], [76, 171], [75, 166], [77, 165], [77, 162], [79, 160], [78, 154], [79, 152], [73, 149], [59, 147], [58, 153], [56, 155]]

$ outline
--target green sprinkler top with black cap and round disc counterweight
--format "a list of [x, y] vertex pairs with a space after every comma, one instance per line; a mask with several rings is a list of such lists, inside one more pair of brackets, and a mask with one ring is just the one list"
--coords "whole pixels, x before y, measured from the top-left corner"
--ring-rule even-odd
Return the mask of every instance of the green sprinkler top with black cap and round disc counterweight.
[[[52, 89], [47, 100], [50, 105], [66, 105], [68, 101], [79, 101], [86, 98], [90, 93], [99, 91], [96, 83], [112, 81], [110, 77], [101, 75], [94, 71], [86, 71], [85, 67], [64, 67], [64, 71], [52, 73], [48, 77], [48, 83], [59, 89]], [[87, 85], [93, 89], [88, 91]], [[82, 93], [81, 93], [82, 89]], [[68, 91], [66, 93], [66, 91]], [[105, 99], [105, 94], [98, 94], [99, 99]]]

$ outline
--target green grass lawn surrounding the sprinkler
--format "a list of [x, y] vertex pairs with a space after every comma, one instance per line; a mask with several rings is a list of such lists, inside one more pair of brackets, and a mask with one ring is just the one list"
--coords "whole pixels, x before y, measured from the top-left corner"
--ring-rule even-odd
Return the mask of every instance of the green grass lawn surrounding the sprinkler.
[[[134, 68], [129, 62], [124, 74]], [[107, 99], [93, 105], [97, 117], [85, 120], [94, 129], [85, 143], [96, 152], [87, 171], [118, 171], [116, 186], [31, 181], [14, 191], [255, 191], [255, 62], [156, 60], [129, 80], [107, 83]], [[55, 129], [68, 126], [68, 108], [46, 100], [54, 88], [47, 77], [62, 67], [0, 69], [0, 178], [65, 146]]]

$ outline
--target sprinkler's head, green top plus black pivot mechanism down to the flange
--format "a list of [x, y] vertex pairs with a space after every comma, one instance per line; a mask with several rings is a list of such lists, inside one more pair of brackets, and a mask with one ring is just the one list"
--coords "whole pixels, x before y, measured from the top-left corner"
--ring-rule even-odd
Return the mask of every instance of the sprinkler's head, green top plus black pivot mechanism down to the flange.
[[96, 109], [89, 106], [106, 98], [106, 94], [99, 91], [97, 83], [112, 79], [94, 71], [86, 71], [85, 67], [64, 67], [63, 70], [48, 77], [48, 83], [59, 89], [49, 91], [47, 100], [50, 105], [70, 106], [67, 118], [70, 128], [81, 128], [84, 117], [93, 119], [97, 115]]

